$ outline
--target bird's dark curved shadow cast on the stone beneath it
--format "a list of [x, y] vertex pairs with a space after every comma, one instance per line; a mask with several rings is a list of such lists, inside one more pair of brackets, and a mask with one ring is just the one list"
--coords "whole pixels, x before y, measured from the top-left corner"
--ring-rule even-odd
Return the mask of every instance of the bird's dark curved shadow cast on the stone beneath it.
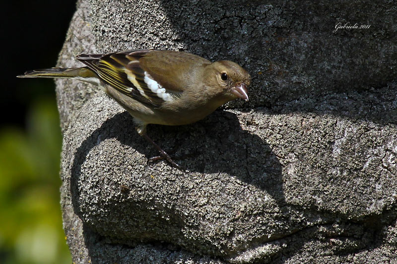
[[[77, 149], [71, 168], [71, 192], [77, 210], [81, 165], [90, 150], [101, 141], [116, 138], [146, 158], [157, 151], [134, 130], [128, 112], [116, 114], [86, 138]], [[186, 126], [148, 127], [148, 135], [165, 151], [176, 150], [175, 160], [185, 169], [199, 173], [227, 173], [269, 193], [281, 207], [285, 204], [281, 164], [266, 142], [241, 129], [237, 117], [215, 111], [205, 120]], [[100, 140], [98, 141], [98, 139]], [[148, 163], [147, 166], [155, 166]], [[79, 215], [80, 212], [76, 211]]]

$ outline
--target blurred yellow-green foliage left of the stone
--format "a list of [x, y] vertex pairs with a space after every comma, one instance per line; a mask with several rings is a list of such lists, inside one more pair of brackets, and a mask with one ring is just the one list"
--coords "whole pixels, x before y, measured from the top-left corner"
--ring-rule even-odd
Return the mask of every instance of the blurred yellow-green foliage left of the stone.
[[37, 99], [26, 129], [0, 129], [0, 262], [71, 263], [60, 207], [61, 129], [54, 98]]

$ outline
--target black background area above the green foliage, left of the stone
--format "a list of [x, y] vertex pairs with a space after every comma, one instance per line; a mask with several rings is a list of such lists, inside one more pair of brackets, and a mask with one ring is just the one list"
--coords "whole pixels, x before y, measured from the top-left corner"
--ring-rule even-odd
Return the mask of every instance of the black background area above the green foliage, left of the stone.
[[[55, 98], [51, 79], [17, 79], [34, 68], [56, 65], [75, 1], [6, 1], [1, 15], [1, 125], [25, 125], [29, 104], [42, 96]], [[3, 4], [2, 4], [3, 5]], [[5, 47], [4, 47], [5, 46]]]

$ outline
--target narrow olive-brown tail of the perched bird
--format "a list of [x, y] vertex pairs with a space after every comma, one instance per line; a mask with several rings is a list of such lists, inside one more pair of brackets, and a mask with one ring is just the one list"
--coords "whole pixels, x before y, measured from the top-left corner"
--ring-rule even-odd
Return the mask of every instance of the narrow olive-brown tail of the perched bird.
[[[88, 67], [79, 68], [48, 68], [29, 70], [18, 78], [76, 78], [89, 83], [97, 83], [98, 75]], [[94, 80], [94, 79], [95, 80]]]

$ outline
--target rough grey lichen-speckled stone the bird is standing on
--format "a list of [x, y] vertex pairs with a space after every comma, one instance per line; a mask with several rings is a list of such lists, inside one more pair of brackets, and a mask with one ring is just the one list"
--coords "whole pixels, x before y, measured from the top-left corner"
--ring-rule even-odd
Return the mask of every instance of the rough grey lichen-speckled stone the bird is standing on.
[[[95, 40], [98, 52], [230, 59], [253, 85], [247, 104], [148, 127], [183, 172], [146, 163], [155, 150], [113, 100], [58, 82], [73, 262], [396, 263], [392, 1], [90, 4], [92, 15], [78, 2], [60, 65], [93, 52]], [[333, 33], [339, 21], [371, 27]]]

